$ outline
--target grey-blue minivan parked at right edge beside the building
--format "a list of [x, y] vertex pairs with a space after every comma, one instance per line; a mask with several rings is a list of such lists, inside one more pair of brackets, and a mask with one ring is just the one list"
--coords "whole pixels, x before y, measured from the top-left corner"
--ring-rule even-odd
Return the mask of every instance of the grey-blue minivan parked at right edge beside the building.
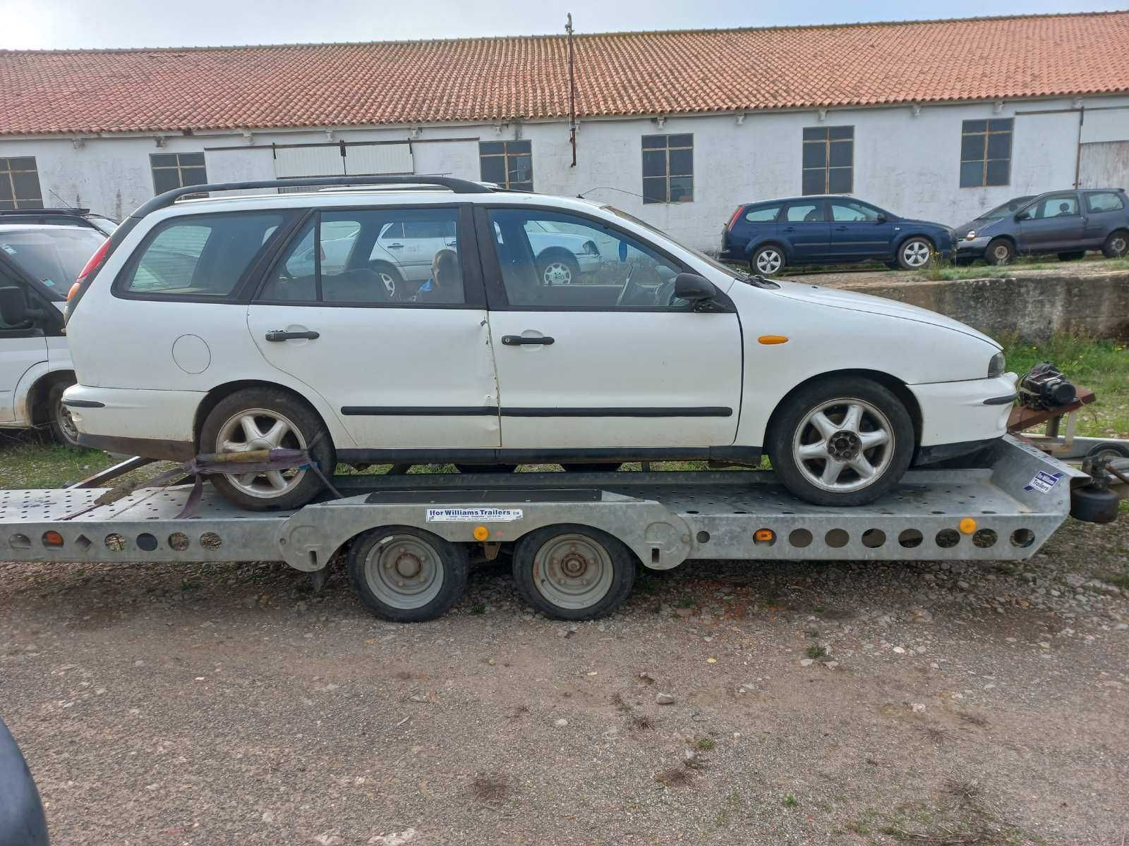
[[1124, 188], [1049, 191], [1009, 200], [956, 227], [953, 238], [957, 257], [992, 264], [1025, 253], [1057, 253], [1068, 261], [1087, 249], [1115, 258], [1129, 254], [1129, 202]]

